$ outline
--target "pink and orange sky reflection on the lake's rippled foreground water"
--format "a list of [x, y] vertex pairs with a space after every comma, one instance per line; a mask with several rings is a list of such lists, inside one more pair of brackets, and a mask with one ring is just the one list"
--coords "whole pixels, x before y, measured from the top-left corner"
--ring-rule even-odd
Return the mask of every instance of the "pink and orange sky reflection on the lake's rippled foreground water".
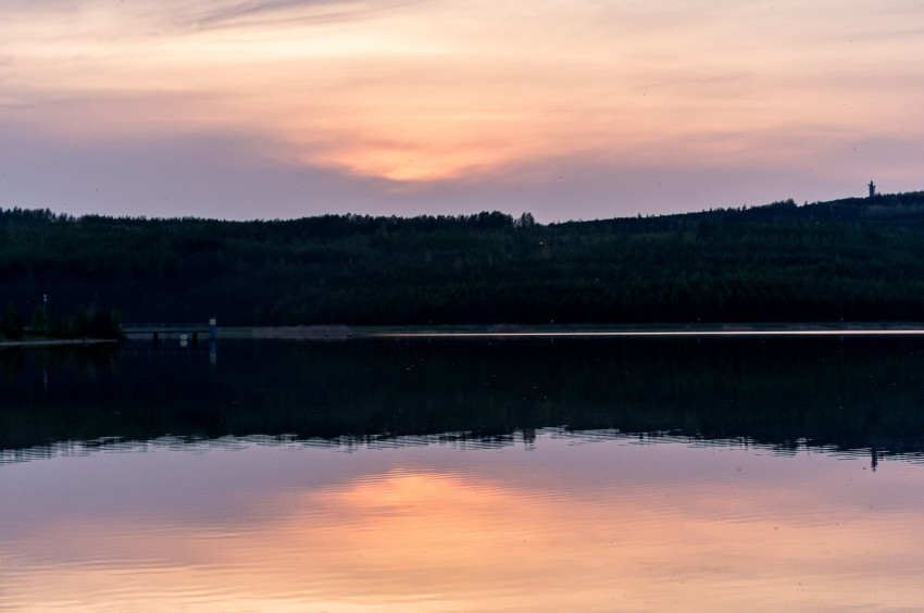
[[0, 609], [850, 611], [924, 601], [924, 470], [542, 430], [0, 464]]

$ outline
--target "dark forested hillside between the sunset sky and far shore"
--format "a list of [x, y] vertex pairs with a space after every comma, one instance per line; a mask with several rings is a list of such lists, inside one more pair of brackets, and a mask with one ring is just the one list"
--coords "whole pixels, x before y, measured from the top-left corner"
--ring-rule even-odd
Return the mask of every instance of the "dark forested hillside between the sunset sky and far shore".
[[555, 224], [500, 212], [232, 222], [0, 209], [3, 305], [3, 330], [71, 335], [116, 318], [920, 321], [924, 192]]

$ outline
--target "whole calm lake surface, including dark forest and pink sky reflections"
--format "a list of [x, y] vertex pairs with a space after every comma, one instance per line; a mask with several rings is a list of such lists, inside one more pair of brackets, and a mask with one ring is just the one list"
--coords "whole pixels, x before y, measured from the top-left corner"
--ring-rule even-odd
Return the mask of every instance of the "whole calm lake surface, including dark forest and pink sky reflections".
[[922, 349], [0, 352], [0, 609], [920, 610]]

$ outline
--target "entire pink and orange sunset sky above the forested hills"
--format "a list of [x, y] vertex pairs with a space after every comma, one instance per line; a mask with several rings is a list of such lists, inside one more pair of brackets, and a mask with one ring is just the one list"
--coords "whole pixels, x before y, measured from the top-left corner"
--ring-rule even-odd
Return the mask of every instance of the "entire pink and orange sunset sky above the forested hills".
[[4, 0], [0, 207], [540, 222], [924, 189], [922, 0]]

